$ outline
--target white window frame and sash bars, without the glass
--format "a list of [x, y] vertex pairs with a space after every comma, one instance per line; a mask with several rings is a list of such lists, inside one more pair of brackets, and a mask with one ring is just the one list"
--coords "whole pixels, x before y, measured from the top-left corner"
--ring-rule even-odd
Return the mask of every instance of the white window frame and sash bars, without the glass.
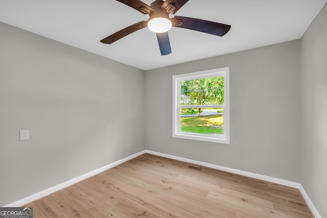
[[[201, 105], [201, 108], [219, 107], [223, 108], [223, 134], [222, 135], [206, 135], [198, 133], [188, 133], [180, 131], [180, 82], [185, 80], [195, 80], [209, 77], [224, 77], [224, 104], [223, 105]], [[195, 106], [182, 106], [194, 108]], [[193, 139], [200, 141], [209, 141], [229, 144], [230, 127], [229, 127], [229, 67], [218, 69], [204, 70], [199, 72], [191, 72], [189, 74], [181, 74], [173, 76], [173, 137]]]

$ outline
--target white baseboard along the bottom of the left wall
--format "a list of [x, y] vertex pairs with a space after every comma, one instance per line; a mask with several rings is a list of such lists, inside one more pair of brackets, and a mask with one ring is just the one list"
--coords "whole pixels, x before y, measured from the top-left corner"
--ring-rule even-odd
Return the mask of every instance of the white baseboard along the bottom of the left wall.
[[66, 188], [66, 187], [68, 187], [70, 185], [73, 185], [73, 184], [75, 184], [77, 182], [80, 182], [80, 181], [82, 181], [84, 179], [87, 179], [89, 177], [95, 176], [95, 175], [97, 175], [97, 174], [99, 174], [99, 173], [101, 173], [103, 171], [106, 171], [107, 169], [110, 169], [110, 168], [112, 168], [112, 167], [114, 167], [116, 165], [119, 165], [121, 163], [124, 163], [124, 162], [126, 162], [126, 161], [128, 161], [130, 159], [133, 159], [134, 157], [137, 157], [139, 155], [142, 155], [144, 153], [145, 153], [145, 151], [138, 152], [136, 154], [133, 154], [133, 155], [128, 156], [126, 158], [123, 158], [121, 160], [118, 160], [118, 161], [115, 161], [115, 162], [110, 163], [108, 165], [102, 166], [102, 167], [100, 167], [98, 169], [95, 169], [94, 171], [89, 172], [89, 173], [83, 174], [81, 176], [78, 176], [78, 177], [73, 178], [71, 180], [68, 180], [66, 182], [60, 183], [58, 185], [55, 185], [55, 186], [53, 186], [51, 188], [47, 188], [47, 189], [45, 189], [43, 191], [39, 191], [39, 192], [37, 192], [37, 193], [35, 193], [35, 194], [31, 195], [31, 196], [28, 196], [26, 198], [23, 198], [23, 199], [20, 199], [18, 201], [15, 201], [13, 203], [7, 204], [7, 205], [5, 205], [3, 207], [20, 207], [22, 205], [28, 204], [28, 203], [30, 203], [32, 201], [35, 201], [37, 199], [43, 198], [45, 196], [48, 196], [51, 193], [56, 192], [56, 191], [58, 191], [60, 189]]

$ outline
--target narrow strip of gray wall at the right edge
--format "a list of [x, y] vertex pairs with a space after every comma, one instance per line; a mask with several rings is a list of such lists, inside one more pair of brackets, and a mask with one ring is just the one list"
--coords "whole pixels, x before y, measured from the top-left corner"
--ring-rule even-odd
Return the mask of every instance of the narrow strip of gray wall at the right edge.
[[327, 5], [301, 38], [301, 184], [327, 217]]

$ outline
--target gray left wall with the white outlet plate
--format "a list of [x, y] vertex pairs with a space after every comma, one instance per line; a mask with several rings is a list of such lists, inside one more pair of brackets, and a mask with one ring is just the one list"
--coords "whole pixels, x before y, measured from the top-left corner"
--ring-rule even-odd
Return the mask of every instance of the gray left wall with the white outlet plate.
[[0, 48], [0, 206], [145, 149], [143, 70], [1, 22]]

